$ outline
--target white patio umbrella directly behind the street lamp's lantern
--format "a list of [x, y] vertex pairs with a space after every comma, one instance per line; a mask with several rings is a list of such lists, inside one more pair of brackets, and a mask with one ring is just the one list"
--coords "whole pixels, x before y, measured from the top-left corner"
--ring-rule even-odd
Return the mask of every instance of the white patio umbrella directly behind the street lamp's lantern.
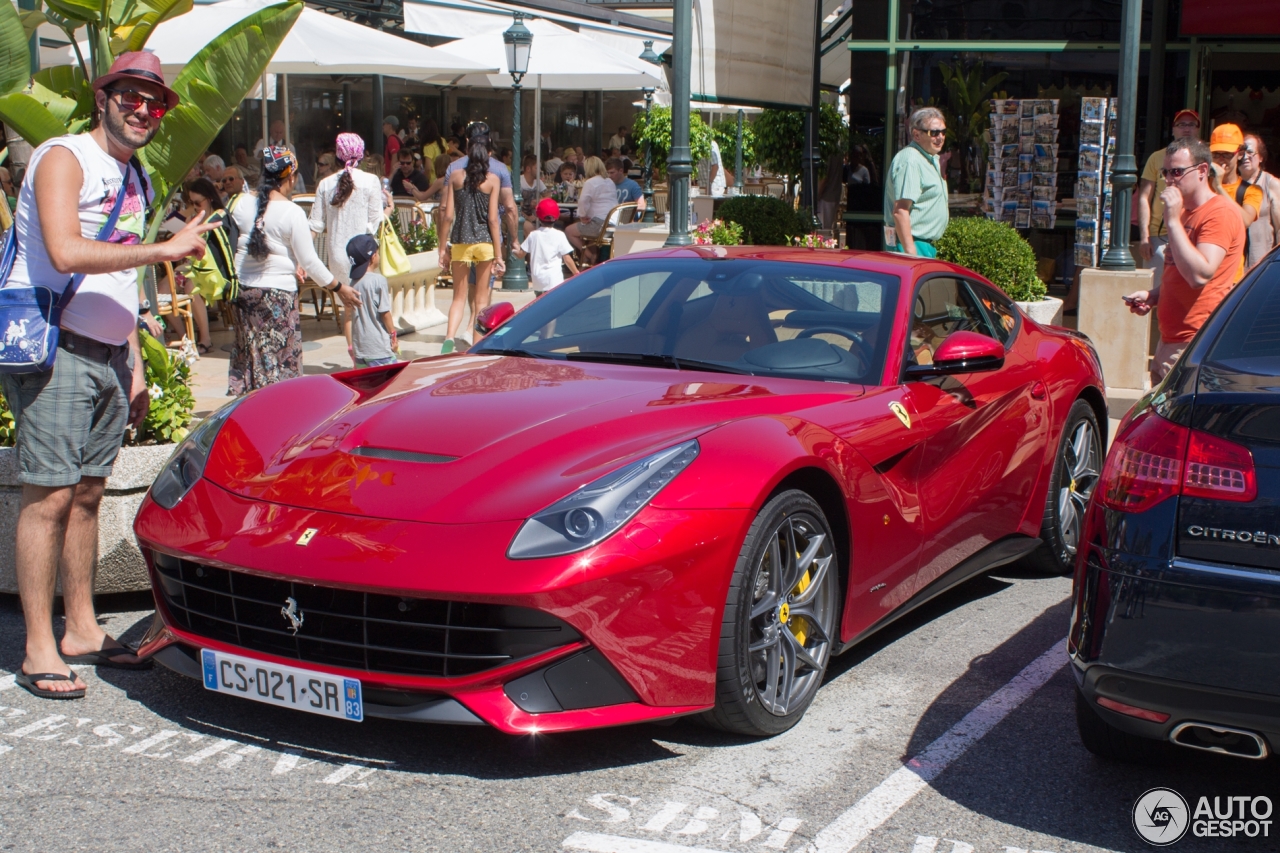
[[[534, 32], [526, 83], [593, 92], [667, 86], [662, 72], [639, 56], [627, 56], [589, 36], [540, 18], [525, 20], [525, 26]], [[436, 74], [428, 79], [429, 83], [511, 88], [500, 29], [451, 41], [442, 50], [500, 70], [467, 73], [461, 79], [458, 76]]]

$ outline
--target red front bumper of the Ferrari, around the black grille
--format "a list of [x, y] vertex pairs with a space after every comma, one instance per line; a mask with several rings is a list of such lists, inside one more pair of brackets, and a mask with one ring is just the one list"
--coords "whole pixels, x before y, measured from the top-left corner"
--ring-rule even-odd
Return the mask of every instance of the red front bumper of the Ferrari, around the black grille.
[[[143, 651], [180, 646], [157, 658], [179, 671], [182, 657], [214, 648], [358, 678], [371, 689], [369, 716], [480, 721], [508, 733], [694, 713], [714, 703], [721, 615], [749, 524], [745, 510], [649, 507], [589, 551], [511, 561], [506, 548], [520, 521], [433, 525], [319, 512], [250, 501], [201, 480], [172, 511], [146, 500], [134, 523], [157, 599], [157, 625]], [[314, 533], [303, 546], [298, 540], [306, 530]], [[532, 608], [568, 624], [580, 639], [456, 678], [278, 657], [184, 628], [165, 606], [152, 552], [323, 588]], [[599, 676], [600, 670], [612, 671], [618, 684]], [[568, 671], [589, 683], [596, 672], [603, 695], [631, 701], [538, 711], [556, 703], [540, 703], [536, 680], [527, 678], [540, 672], [554, 683]], [[525, 707], [508, 695], [508, 685], [521, 679], [515, 695]], [[371, 701], [378, 697], [394, 702]]]

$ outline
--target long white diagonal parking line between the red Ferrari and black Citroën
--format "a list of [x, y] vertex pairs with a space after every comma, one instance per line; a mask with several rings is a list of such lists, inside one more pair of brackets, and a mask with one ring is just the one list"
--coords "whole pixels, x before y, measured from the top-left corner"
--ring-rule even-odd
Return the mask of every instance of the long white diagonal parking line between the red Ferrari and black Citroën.
[[1028, 663], [1005, 686], [925, 747], [924, 752], [908, 761], [905, 767], [893, 771], [852, 808], [826, 826], [814, 836], [808, 853], [849, 853], [861, 844], [1064, 666], [1065, 639]]

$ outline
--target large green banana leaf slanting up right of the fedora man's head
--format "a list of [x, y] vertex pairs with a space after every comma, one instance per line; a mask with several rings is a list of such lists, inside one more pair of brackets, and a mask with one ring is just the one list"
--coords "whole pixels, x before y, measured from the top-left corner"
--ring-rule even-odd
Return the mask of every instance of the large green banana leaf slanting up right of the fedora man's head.
[[172, 83], [182, 102], [169, 110], [159, 133], [142, 151], [157, 181], [157, 196], [182, 181], [236, 114], [300, 14], [302, 3], [297, 1], [256, 12], [205, 45], [182, 69]]

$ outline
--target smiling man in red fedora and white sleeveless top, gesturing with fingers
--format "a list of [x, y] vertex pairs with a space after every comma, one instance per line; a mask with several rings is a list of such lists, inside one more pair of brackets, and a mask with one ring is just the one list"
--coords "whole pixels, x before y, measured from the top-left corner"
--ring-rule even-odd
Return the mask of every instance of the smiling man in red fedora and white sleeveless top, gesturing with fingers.
[[[142, 242], [151, 188], [134, 152], [178, 104], [160, 60], [124, 54], [93, 81], [93, 90], [92, 129], [49, 140], [31, 155], [14, 215], [18, 256], [9, 278], [61, 293], [82, 277], [61, 314], [54, 368], [3, 377], [23, 484], [17, 570], [27, 654], [15, 681], [52, 699], [84, 695], [69, 663], [148, 663], [97, 624], [97, 511], [124, 429], [140, 424], [148, 406], [137, 269], [202, 256], [204, 233], [216, 227], [192, 220], [168, 242]], [[122, 192], [115, 225], [105, 233]], [[59, 575], [67, 615], [60, 644], [52, 631]]]

